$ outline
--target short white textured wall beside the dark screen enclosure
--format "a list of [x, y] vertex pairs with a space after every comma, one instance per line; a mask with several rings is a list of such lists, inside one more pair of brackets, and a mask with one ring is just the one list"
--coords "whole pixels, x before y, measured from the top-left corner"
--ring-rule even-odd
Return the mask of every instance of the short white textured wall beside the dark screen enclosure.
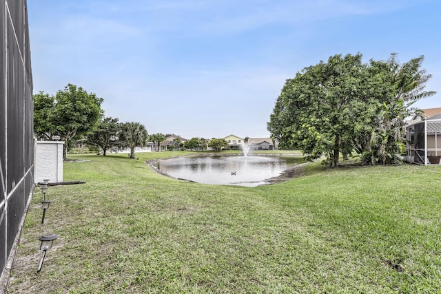
[[34, 182], [63, 182], [63, 142], [35, 143]]

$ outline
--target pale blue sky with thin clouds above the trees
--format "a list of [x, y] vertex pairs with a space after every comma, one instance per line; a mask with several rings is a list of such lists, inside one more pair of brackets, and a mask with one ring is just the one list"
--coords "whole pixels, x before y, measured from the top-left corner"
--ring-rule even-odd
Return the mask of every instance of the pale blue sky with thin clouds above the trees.
[[28, 0], [34, 93], [68, 83], [149, 134], [267, 137], [285, 80], [334, 54], [404, 63], [441, 107], [438, 0]]

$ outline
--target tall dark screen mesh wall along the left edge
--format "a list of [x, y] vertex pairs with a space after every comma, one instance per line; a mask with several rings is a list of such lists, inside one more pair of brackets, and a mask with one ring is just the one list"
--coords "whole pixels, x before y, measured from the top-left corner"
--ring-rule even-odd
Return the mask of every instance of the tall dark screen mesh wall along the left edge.
[[0, 54], [2, 54], [0, 58], [0, 271], [2, 273], [19, 233], [20, 222], [33, 187], [32, 72], [28, 16], [25, 7], [25, 0], [0, 0]]

